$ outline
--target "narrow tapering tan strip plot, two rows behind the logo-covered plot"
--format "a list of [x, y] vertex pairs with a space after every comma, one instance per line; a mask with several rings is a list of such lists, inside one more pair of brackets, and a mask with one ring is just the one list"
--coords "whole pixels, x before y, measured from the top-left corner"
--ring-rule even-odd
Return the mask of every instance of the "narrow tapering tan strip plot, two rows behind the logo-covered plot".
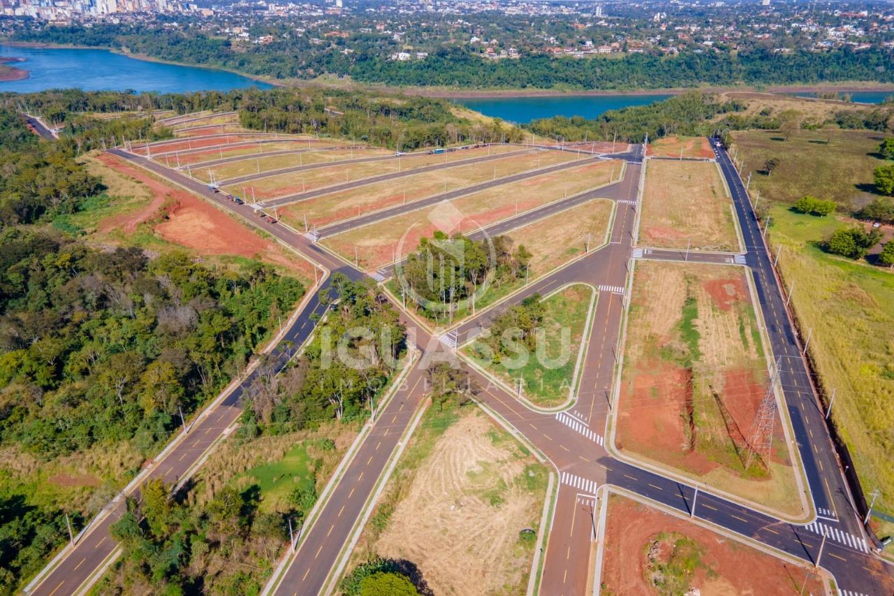
[[[376, 161], [365, 164], [350, 164], [344, 166], [321, 167], [303, 172], [275, 175], [262, 178], [251, 183], [257, 200], [274, 199], [298, 192], [312, 191], [316, 188], [325, 188], [333, 184], [348, 183], [363, 180], [376, 175], [406, 172], [418, 167], [435, 166], [438, 164], [450, 164], [460, 159], [469, 159], [490, 155], [493, 152], [506, 152], [507, 150], [520, 150], [519, 147], [495, 145], [492, 148], [480, 147], [462, 151], [451, 151], [443, 154], [424, 154], [406, 156], [400, 159]], [[241, 187], [232, 187], [228, 192], [240, 192]]]

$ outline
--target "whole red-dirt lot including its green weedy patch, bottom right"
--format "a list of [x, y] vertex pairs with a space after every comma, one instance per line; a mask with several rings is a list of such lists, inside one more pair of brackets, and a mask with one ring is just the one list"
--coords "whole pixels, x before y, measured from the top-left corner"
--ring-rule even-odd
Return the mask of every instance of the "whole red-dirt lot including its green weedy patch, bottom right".
[[618, 495], [609, 498], [603, 548], [606, 596], [825, 593], [813, 569]]

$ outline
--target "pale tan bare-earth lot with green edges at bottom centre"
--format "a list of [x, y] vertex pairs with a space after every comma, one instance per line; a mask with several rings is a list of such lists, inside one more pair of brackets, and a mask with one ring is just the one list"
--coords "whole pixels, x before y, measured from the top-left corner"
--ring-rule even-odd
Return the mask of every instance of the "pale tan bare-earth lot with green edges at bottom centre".
[[539, 527], [545, 467], [477, 408], [426, 413], [410, 441], [349, 571], [377, 555], [436, 594], [524, 594], [536, 541], [519, 532]]

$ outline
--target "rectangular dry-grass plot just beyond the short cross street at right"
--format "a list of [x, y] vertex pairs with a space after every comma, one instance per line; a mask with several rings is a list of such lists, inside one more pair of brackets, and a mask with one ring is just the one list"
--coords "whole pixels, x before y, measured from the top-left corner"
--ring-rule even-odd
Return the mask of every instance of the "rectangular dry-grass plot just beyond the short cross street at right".
[[732, 201], [716, 164], [650, 159], [639, 243], [694, 251], [741, 250]]

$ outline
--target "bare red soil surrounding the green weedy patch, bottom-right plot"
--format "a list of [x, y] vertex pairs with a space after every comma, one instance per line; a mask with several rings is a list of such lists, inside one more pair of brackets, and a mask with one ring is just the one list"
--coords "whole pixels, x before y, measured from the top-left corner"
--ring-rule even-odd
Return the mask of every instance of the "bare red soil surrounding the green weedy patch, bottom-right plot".
[[[696, 541], [703, 549], [702, 566], [690, 582], [705, 596], [775, 595], [795, 596], [808, 569], [772, 557], [702, 526], [628, 498], [612, 495], [605, 526], [602, 582], [603, 593], [657, 594], [646, 583], [647, 549], [662, 532], [675, 532]], [[708, 569], [713, 570], [709, 574]], [[760, 573], [755, 573], [760, 570]], [[813, 575], [805, 594], [823, 594], [822, 580]]]

